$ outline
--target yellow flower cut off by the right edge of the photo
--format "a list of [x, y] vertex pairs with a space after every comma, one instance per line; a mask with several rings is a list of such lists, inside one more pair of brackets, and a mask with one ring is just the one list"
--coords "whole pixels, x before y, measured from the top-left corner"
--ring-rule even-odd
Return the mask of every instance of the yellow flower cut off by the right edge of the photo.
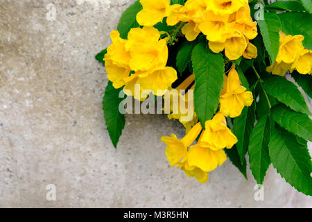
[[304, 49], [299, 58], [291, 66], [291, 71], [297, 69], [300, 74], [311, 74], [312, 50]]

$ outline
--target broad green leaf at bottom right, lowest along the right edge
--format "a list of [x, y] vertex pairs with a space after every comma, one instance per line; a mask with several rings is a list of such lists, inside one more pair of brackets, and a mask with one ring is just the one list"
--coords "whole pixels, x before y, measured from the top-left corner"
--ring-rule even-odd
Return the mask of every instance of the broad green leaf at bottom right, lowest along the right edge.
[[269, 154], [273, 166], [286, 182], [312, 195], [311, 156], [306, 145], [300, 144], [295, 135], [275, 126], [271, 129]]

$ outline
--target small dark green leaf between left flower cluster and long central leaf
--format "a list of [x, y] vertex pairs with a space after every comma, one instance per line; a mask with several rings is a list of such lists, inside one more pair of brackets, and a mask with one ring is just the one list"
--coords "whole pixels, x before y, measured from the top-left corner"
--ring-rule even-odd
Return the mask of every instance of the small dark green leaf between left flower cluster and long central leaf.
[[192, 51], [194, 49], [194, 42], [185, 41], [183, 42], [181, 49], [177, 53], [177, 71], [182, 72], [187, 69], [187, 65], [191, 62]]

